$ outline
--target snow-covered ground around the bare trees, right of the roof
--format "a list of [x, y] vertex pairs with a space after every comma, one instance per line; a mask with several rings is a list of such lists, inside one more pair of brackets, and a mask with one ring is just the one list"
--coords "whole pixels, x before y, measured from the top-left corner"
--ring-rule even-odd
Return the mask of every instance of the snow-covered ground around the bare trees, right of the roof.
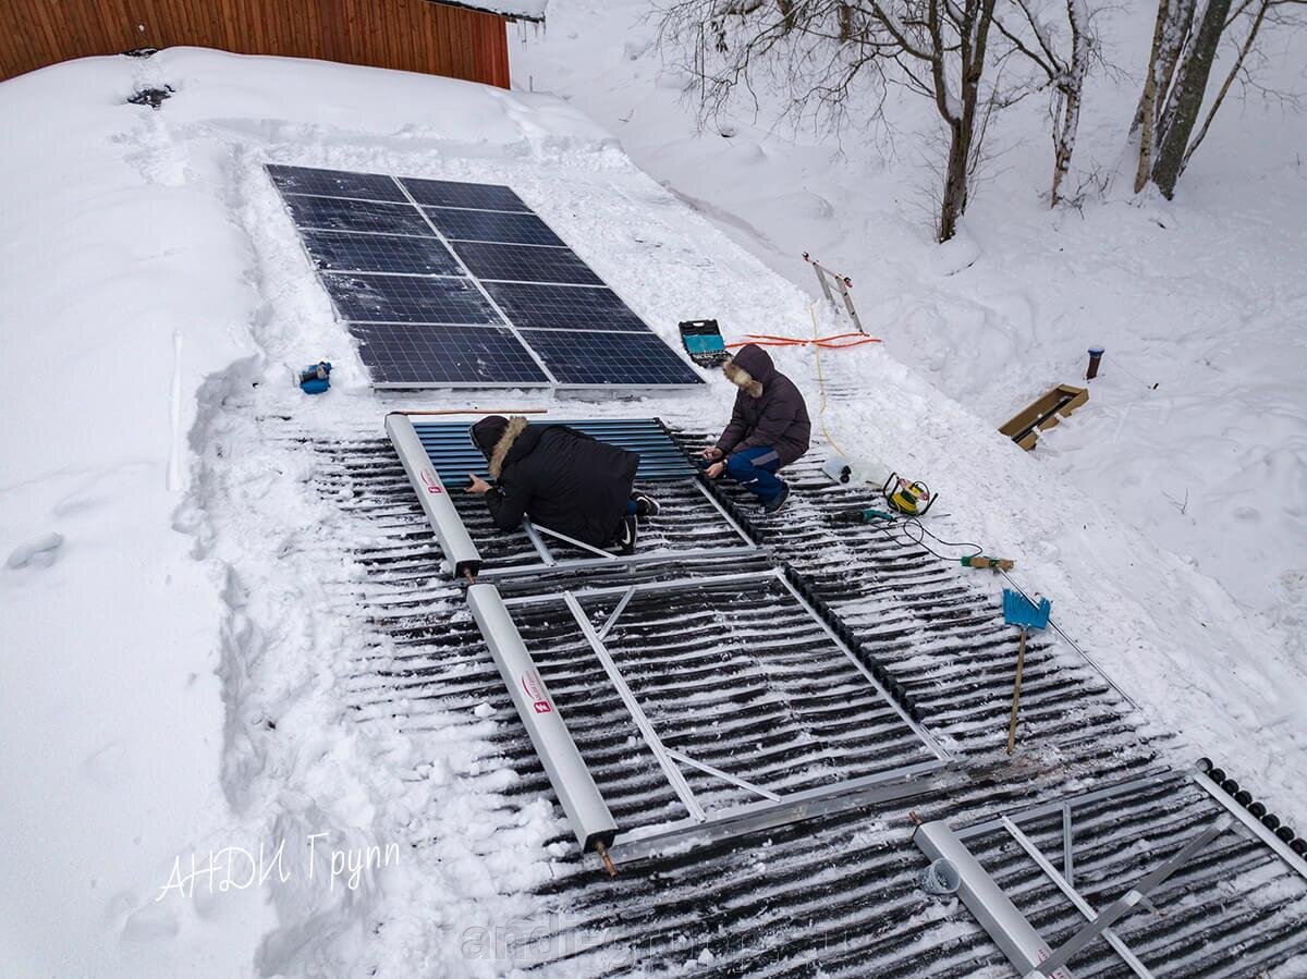
[[[776, 125], [763, 86], [757, 114], [741, 105], [699, 129], [676, 52], [664, 60], [655, 43], [654, 7], [555, 0], [546, 30], [512, 50], [516, 84], [597, 119], [814, 297], [801, 252], [851, 276], [886, 349], [995, 427], [1051, 386], [1080, 384], [1086, 349], [1104, 346], [1089, 408], [1038, 457], [1265, 613], [1307, 663], [1307, 122], [1255, 94], [1231, 101], [1174, 203], [1090, 195], [1051, 212], [1044, 105], [1030, 99], [993, 135], [966, 241], [941, 250], [915, 139], [932, 108], [891, 102], [893, 139], [836, 140]], [[1090, 80], [1072, 190], [1121, 152], [1154, 16], [1133, 4], [1103, 17], [1104, 56], [1125, 73]], [[1261, 81], [1307, 91], [1304, 46], [1270, 35]], [[704, 295], [701, 315], [716, 308]]]

